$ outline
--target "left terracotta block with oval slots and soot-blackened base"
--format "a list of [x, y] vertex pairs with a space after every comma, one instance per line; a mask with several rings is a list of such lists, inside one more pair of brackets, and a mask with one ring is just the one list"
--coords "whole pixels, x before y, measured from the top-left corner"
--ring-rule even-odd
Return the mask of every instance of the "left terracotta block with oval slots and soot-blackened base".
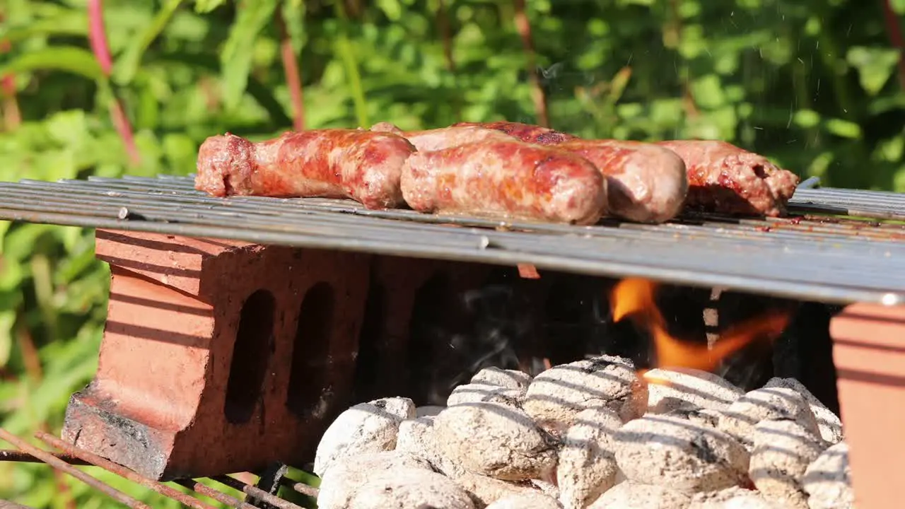
[[154, 479], [310, 459], [352, 394], [369, 256], [97, 232], [98, 372], [62, 438]]

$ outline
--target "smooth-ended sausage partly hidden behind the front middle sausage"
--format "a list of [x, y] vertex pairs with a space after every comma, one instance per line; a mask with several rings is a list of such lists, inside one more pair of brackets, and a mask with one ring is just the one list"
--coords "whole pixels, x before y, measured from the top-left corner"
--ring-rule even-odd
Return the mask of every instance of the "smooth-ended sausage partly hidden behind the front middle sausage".
[[618, 139], [574, 139], [557, 149], [575, 152], [603, 172], [611, 216], [662, 223], [681, 212], [688, 177], [672, 150]]

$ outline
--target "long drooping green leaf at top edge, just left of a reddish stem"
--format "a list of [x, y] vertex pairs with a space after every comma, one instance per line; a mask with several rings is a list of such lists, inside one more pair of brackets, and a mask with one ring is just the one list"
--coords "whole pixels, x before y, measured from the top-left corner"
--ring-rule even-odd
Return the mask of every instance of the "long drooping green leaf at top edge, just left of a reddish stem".
[[248, 75], [252, 72], [254, 42], [264, 26], [271, 22], [278, 4], [278, 0], [248, 2], [239, 9], [230, 26], [229, 37], [220, 53], [224, 103], [228, 110], [235, 109], [242, 101]]

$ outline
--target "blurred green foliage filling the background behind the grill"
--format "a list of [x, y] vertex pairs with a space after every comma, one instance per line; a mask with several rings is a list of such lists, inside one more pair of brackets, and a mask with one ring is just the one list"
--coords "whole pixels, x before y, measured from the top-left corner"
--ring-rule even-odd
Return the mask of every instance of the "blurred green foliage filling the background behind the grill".
[[[300, 66], [308, 128], [537, 118], [508, 0], [107, 0], [110, 80], [87, 41], [86, 4], [0, 6], [0, 38], [11, 47], [0, 75], [14, 73], [22, 115], [0, 132], [2, 181], [184, 175], [207, 136], [289, 129], [282, 36]], [[905, 77], [879, 5], [527, 4], [557, 129], [726, 139], [824, 185], [905, 191]], [[905, 13], [905, 1], [891, 6]], [[111, 120], [114, 100], [135, 132], [137, 164]], [[9, 101], [4, 110], [10, 118]], [[0, 223], [0, 239], [0, 420], [20, 435], [42, 425], [55, 432], [68, 396], [95, 369], [109, 274], [93, 258], [90, 231]], [[91, 473], [154, 507], [176, 506]], [[110, 506], [45, 466], [0, 464], [0, 498]]]

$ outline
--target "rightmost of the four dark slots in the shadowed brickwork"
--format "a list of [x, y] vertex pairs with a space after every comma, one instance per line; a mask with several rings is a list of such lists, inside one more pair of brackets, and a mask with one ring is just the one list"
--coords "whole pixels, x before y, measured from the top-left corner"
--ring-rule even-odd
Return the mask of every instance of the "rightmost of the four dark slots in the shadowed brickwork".
[[436, 389], [435, 379], [438, 376], [438, 361], [434, 349], [441, 345], [450, 345], [454, 341], [452, 331], [452, 312], [454, 311], [450, 295], [450, 280], [447, 274], [433, 274], [414, 294], [411, 322], [409, 322], [409, 366], [407, 387], [414, 402], [433, 404], [443, 399], [442, 395], [432, 392]]

